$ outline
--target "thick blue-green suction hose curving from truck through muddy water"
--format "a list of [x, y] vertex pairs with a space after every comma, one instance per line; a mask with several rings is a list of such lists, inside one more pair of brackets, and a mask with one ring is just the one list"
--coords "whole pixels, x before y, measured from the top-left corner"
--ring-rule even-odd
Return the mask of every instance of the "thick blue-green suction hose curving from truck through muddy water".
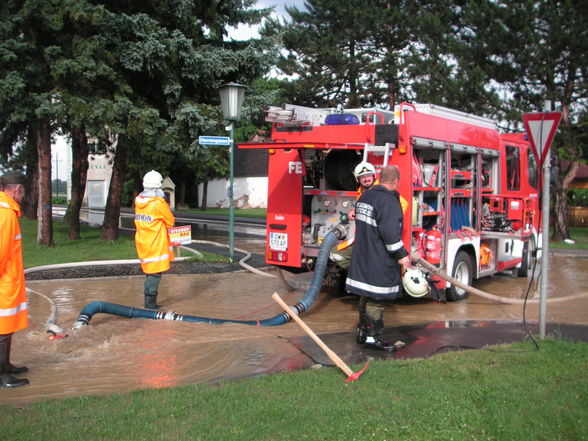
[[[314, 273], [312, 275], [312, 281], [310, 287], [304, 294], [302, 300], [296, 305], [292, 306], [293, 313], [301, 314], [304, 311], [309, 310], [315, 302], [318, 294], [321, 291], [323, 285], [323, 279], [327, 270], [327, 263], [329, 260], [329, 254], [331, 248], [335, 246], [338, 240], [344, 239], [346, 235], [345, 227], [341, 224], [333, 228], [324, 237], [319, 250], [319, 254], [316, 258], [316, 264], [314, 267]], [[287, 312], [282, 312], [274, 317], [264, 320], [230, 320], [230, 319], [215, 319], [208, 317], [198, 317], [194, 315], [182, 315], [173, 311], [161, 312], [153, 311], [150, 309], [133, 308], [131, 306], [118, 305], [110, 302], [92, 302], [88, 303], [81, 310], [78, 315], [77, 321], [73, 325], [73, 329], [76, 330], [80, 327], [87, 326], [92, 320], [92, 316], [96, 313], [112, 314], [127, 318], [147, 318], [152, 320], [177, 320], [183, 322], [197, 322], [197, 323], [208, 323], [211, 325], [220, 325], [223, 323], [237, 323], [241, 325], [252, 325], [252, 326], [281, 326], [288, 323], [292, 318]]]

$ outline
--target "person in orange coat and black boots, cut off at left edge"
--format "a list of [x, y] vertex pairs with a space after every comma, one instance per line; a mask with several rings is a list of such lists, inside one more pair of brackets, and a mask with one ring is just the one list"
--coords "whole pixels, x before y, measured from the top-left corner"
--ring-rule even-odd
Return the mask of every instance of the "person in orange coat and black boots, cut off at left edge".
[[0, 177], [0, 385], [18, 387], [26, 378], [13, 375], [28, 371], [10, 363], [12, 335], [28, 327], [27, 297], [22, 263], [22, 239], [18, 218], [26, 180], [19, 172]]

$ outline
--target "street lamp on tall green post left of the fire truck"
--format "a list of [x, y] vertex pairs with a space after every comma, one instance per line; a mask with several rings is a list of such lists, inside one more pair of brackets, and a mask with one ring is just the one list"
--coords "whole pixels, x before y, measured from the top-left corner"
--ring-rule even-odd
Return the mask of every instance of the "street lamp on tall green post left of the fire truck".
[[243, 105], [243, 95], [245, 87], [238, 83], [223, 84], [219, 88], [221, 107], [223, 109], [223, 118], [230, 121], [231, 141], [229, 145], [229, 260], [234, 261], [235, 245], [235, 204], [233, 201], [233, 158], [235, 150], [235, 122], [241, 118], [241, 107]]

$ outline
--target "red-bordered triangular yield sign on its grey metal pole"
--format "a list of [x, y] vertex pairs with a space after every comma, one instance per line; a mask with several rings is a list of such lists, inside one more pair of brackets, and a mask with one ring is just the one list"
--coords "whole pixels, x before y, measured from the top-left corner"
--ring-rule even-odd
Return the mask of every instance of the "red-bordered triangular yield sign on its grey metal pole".
[[[546, 101], [546, 110], [551, 107], [551, 102]], [[547, 275], [549, 273], [549, 183], [551, 181], [551, 164], [549, 147], [557, 127], [561, 120], [560, 112], [526, 113], [523, 115], [523, 124], [531, 148], [537, 159], [539, 167], [543, 168], [543, 204], [542, 220], [543, 245], [541, 251], [541, 292], [539, 297], [539, 336], [545, 339], [545, 320], [547, 316]]]

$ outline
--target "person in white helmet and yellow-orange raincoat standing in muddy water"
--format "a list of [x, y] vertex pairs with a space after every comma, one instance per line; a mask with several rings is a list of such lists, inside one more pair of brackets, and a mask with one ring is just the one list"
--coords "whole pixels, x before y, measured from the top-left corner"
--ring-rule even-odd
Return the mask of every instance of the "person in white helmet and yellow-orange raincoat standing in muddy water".
[[174, 260], [167, 229], [175, 219], [161, 190], [163, 178], [155, 170], [143, 177], [143, 192], [135, 198], [135, 246], [145, 273], [145, 308], [158, 309], [157, 293], [161, 273]]

